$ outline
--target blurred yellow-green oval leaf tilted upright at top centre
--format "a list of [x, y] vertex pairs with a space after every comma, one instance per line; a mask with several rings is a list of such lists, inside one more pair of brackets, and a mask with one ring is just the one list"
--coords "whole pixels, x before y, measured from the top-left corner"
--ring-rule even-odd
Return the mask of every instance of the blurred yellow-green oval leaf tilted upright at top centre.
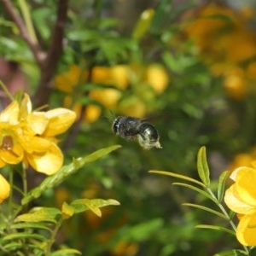
[[149, 26], [154, 18], [154, 9], [143, 11], [132, 32], [132, 38], [141, 39], [148, 32]]

